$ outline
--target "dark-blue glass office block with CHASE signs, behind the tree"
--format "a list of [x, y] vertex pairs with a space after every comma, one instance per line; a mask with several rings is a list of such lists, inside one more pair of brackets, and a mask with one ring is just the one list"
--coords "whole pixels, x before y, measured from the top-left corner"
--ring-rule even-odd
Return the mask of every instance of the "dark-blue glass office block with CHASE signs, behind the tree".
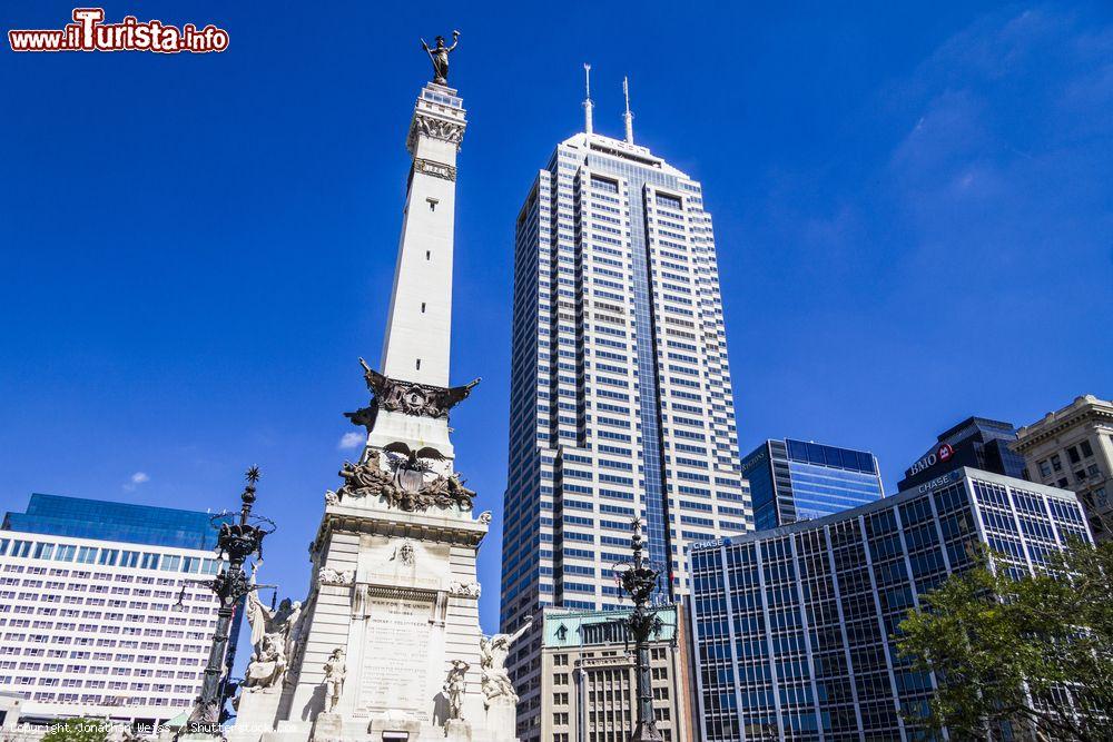
[[1031, 574], [1090, 541], [1073, 493], [959, 468], [818, 521], [696, 545], [697, 716], [705, 742], [919, 740], [935, 690], [890, 639], [975, 546]]

